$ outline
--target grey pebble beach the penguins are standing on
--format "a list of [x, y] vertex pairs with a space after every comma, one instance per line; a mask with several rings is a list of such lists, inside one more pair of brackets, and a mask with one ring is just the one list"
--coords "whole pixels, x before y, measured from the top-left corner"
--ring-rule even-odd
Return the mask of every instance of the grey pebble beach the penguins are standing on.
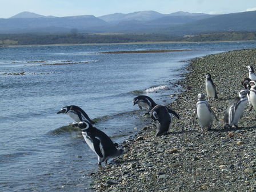
[[[223, 129], [226, 107], [243, 89], [248, 65], [256, 68], [256, 49], [196, 58], [175, 83], [181, 93], [168, 106], [174, 118], [169, 134], [155, 137], [155, 123], [122, 143], [127, 152], [91, 173], [95, 191], [256, 191], [256, 111], [245, 113], [239, 129]], [[219, 118], [211, 131], [192, 125], [197, 94], [205, 93], [210, 73], [218, 99], [209, 101]]]

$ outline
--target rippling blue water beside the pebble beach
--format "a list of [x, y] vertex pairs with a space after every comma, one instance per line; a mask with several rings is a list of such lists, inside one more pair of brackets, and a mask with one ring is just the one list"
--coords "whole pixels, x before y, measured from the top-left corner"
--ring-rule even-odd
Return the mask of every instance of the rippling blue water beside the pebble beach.
[[[0, 187], [3, 191], [90, 188], [97, 156], [73, 119], [57, 111], [78, 105], [114, 142], [136, 133], [143, 111], [133, 98], [171, 102], [187, 59], [255, 48], [255, 42], [0, 47]], [[186, 50], [99, 54], [104, 51]], [[18, 75], [19, 74], [19, 75]], [[137, 127], [137, 129], [134, 129]]]

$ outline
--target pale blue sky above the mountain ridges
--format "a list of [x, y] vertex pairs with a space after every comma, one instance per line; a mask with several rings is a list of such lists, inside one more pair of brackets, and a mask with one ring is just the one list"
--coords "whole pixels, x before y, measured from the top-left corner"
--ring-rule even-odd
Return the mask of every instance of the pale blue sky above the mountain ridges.
[[57, 17], [73, 15], [107, 15], [154, 10], [169, 14], [225, 14], [256, 10], [256, 0], [0, 0], [0, 18], [22, 11]]

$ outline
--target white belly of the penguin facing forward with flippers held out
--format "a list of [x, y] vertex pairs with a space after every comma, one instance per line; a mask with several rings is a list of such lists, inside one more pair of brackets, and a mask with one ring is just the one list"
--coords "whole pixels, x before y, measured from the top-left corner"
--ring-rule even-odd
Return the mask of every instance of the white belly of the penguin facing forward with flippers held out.
[[203, 127], [207, 127], [211, 122], [213, 122], [213, 115], [205, 104], [198, 105], [197, 118], [199, 124]]

